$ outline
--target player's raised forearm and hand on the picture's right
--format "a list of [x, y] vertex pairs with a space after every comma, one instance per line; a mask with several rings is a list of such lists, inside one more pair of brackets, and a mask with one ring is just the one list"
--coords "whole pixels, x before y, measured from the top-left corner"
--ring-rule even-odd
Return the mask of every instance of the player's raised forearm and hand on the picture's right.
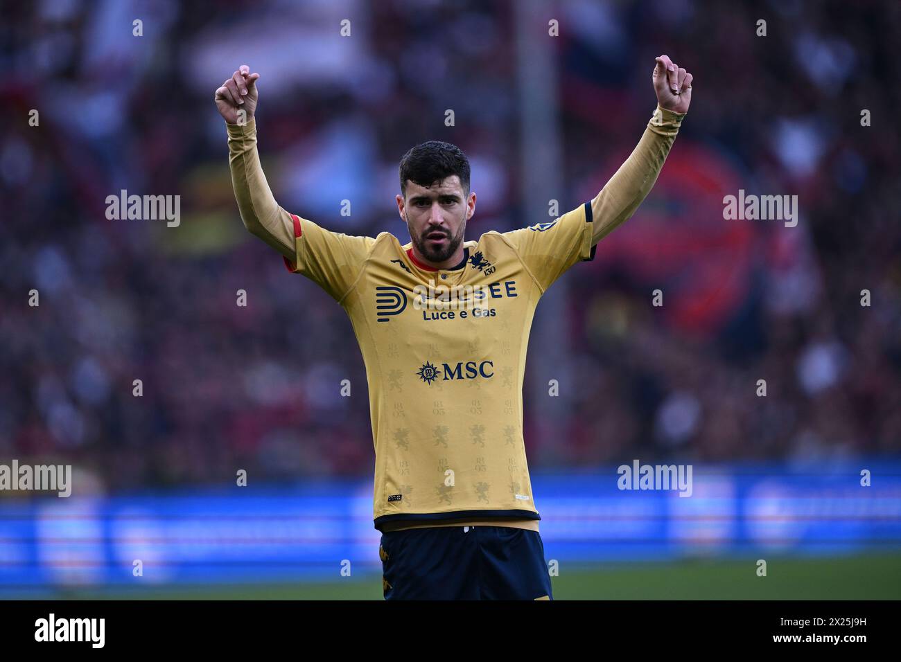
[[692, 76], [666, 55], [652, 74], [657, 109], [628, 159], [591, 201], [592, 245], [629, 219], [650, 193], [691, 104]]

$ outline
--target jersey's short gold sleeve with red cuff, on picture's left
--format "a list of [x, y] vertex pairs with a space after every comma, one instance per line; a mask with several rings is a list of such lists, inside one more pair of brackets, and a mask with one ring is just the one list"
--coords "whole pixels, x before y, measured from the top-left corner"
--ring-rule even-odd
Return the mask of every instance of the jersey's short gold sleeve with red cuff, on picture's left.
[[291, 214], [294, 221], [295, 257], [285, 266], [303, 274], [341, 303], [356, 284], [376, 240], [325, 230], [316, 223]]

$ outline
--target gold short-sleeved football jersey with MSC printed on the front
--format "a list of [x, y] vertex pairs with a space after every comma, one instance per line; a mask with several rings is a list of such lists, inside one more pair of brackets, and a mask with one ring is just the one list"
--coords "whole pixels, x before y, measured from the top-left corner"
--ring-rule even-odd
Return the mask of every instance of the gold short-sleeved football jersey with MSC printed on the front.
[[412, 243], [328, 231], [292, 216], [296, 258], [350, 317], [369, 382], [375, 525], [540, 520], [523, 442], [523, 374], [535, 306], [594, 258], [591, 205], [465, 241], [453, 268]]

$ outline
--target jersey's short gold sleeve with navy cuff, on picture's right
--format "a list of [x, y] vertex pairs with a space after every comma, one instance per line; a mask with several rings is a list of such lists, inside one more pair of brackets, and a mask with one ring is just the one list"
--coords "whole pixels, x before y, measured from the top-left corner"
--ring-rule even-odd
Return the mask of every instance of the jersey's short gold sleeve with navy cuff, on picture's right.
[[577, 262], [595, 258], [591, 203], [579, 205], [553, 221], [504, 232], [532, 277], [544, 290]]

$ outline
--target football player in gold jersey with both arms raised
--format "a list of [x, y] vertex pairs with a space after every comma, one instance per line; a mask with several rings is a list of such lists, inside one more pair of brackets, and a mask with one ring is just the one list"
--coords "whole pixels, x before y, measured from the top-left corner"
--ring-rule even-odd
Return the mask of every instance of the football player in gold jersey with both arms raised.
[[551, 600], [523, 444], [532, 315], [648, 195], [691, 102], [691, 74], [657, 58], [657, 108], [632, 155], [593, 200], [532, 227], [466, 240], [469, 161], [447, 142], [415, 146], [400, 162], [403, 245], [278, 206], [257, 153], [258, 78], [241, 65], [215, 93], [234, 194], [248, 231], [350, 317], [369, 381], [386, 599]]

